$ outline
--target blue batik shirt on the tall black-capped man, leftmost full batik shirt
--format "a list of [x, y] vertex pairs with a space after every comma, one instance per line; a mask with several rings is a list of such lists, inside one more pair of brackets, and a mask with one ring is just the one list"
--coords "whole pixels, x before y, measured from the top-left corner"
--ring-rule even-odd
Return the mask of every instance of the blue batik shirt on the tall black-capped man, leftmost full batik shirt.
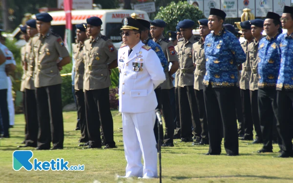
[[211, 87], [235, 86], [237, 66], [246, 61], [238, 39], [224, 27], [219, 34], [210, 33], [205, 41], [206, 76], [204, 85]]

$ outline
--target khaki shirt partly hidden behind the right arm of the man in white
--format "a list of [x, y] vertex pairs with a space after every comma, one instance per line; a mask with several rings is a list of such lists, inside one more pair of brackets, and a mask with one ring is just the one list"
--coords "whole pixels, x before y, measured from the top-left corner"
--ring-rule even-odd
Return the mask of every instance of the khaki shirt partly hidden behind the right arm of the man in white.
[[[153, 39], [153, 41], [155, 41]], [[157, 43], [161, 46], [165, 57], [168, 61], [168, 65], [166, 67], [166, 69], [164, 70], [165, 75], [166, 75], [166, 80], [160, 84], [161, 89], [171, 89], [173, 88], [173, 83], [172, 80], [169, 76], [169, 62], [170, 61], [178, 61], [178, 56], [177, 53], [175, 51], [175, 48], [173, 46], [173, 43], [169, 40], [167, 40], [163, 35], [161, 35], [160, 39], [157, 41]]]

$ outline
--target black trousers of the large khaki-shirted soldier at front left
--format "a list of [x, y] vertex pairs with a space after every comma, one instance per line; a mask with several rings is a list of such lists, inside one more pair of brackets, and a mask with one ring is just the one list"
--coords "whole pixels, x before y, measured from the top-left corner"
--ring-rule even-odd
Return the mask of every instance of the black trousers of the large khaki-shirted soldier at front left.
[[61, 84], [36, 88], [39, 121], [38, 147], [63, 148], [64, 129], [62, 115]]

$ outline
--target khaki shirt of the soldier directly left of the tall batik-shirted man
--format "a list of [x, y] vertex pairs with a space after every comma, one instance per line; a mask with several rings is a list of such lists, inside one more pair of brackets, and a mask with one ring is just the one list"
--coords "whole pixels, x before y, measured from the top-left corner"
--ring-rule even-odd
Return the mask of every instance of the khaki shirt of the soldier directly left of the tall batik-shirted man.
[[195, 63], [194, 71], [194, 86], [196, 90], [204, 89], [204, 77], [206, 75], [206, 55], [205, 55], [205, 42], [202, 38], [192, 45], [193, 48], [193, 63]]

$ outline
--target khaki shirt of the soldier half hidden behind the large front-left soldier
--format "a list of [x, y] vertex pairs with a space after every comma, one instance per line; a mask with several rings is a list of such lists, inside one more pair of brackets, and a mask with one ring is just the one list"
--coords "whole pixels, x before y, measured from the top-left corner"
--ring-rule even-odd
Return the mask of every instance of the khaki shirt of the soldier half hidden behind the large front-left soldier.
[[25, 77], [24, 87], [29, 90], [35, 88], [35, 56], [34, 50], [32, 49], [31, 43], [33, 38], [30, 38], [25, 47], [25, 62], [27, 63], [27, 71]]

